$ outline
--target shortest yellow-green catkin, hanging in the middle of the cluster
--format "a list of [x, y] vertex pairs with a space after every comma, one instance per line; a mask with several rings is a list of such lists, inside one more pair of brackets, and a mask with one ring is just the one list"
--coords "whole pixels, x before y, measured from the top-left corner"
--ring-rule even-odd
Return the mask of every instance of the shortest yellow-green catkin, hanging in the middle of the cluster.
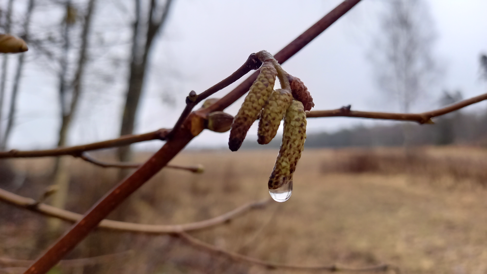
[[279, 124], [292, 101], [293, 95], [288, 89], [277, 89], [272, 92], [260, 115], [257, 134], [259, 144], [268, 144], [275, 137]]

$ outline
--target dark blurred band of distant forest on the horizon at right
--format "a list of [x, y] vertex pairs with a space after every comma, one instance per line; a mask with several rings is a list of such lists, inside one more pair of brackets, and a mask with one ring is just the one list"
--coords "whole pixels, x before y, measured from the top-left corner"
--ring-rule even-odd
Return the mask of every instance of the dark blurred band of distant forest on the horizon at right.
[[[454, 112], [433, 118], [433, 125], [398, 122], [387, 126], [357, 126], [335, 133], [309, 133], [304, 146], [310, 147], [374, 147], [408, 145], [469, 144], [487, 147], [487, 111], [483, 113]], [[407, 137], [406, 137], [407, 136]], [[280, 136], [269, 146], [279, 147]], [[247, 138], [243, 148], [262, 148]]]

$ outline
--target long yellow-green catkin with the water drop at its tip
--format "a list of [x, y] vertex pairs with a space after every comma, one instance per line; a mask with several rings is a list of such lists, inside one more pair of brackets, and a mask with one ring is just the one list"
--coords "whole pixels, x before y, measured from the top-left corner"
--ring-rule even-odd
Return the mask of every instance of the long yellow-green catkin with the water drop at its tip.
[[284, 133], [282, 135], [279, 155], [269, 177], [269, 189], [275, 190], [283, 185], [293, 183], [296, 170], [306, 139], [306, 113], [301, 102], [293, 100], [284, 117]]

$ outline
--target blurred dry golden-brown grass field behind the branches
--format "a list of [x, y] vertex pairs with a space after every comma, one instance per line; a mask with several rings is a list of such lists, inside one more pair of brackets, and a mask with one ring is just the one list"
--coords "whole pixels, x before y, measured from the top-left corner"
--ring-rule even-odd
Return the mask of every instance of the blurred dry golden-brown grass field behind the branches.
[[[267, 180], [276, 154], [275, 150], [185, 152], [173, 163], [203, 164], [203, 174], [163, 170], [110, 219], [187, 223], [268, 197]], [[68, 209], [82, 213], [116, 183], [117, 173], [80, 160], [67, 161], [72, 170]], [[50, 160], [12, 164], [25, 180], [22, 185], [3, 183], [2, 188], [36, 198], [49, 185]], [[486, 185], [486, 149], [427, 147], [407, 153], [403, 149], [307, 149], [289, 201], [272, 202], [191, 235], [279, 263], [355, 267], [391, 263], [407, 274], [485, 274]], [[0, 203], [0, 257], [35, 258], [52, 241], [46, 240], [45, 224], [44, 217]], [[127, 250], [132, 250], [129, 256], [123, 253], [120, 259], [56, 268], [52, 274], [300, 273], [235, 263], [168, 235], [108, 231], [93, 233], [69, 258]]]

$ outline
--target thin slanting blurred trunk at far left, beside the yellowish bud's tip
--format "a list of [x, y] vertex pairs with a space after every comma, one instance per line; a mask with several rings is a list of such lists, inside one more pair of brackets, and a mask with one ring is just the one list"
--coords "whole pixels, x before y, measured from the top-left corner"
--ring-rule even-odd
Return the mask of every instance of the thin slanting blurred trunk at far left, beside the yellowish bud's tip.
[[[26, 13], [26, 21], [24, 22], [24, 40], [26, 41], [28, 41], [28, 37], [29, 37], [29, 25], [30, 25], [30, 19], [32, 18], [33, 9], [34, 9], [34, 0], [29, 0], [27, 13]], [[26, 56], [25, 54], [19, 55], [17, 72], [15, 74], [14, 86], [12, 88], [12, 96], [10, 97], [10, 108], [8, 112], [7, 128], [5, 129], [5, 134], [3, 135], [3, 139], [1, 140], [0, 150], [5, 150], [7, 146], [8, 138], [10, 137], [10, 133], [14, 125], [17, 94], [19, 93], [19, 85], [20, 85], [20, 79], [22, 77], [22, 71], [24, 68], [25, 56]]]

